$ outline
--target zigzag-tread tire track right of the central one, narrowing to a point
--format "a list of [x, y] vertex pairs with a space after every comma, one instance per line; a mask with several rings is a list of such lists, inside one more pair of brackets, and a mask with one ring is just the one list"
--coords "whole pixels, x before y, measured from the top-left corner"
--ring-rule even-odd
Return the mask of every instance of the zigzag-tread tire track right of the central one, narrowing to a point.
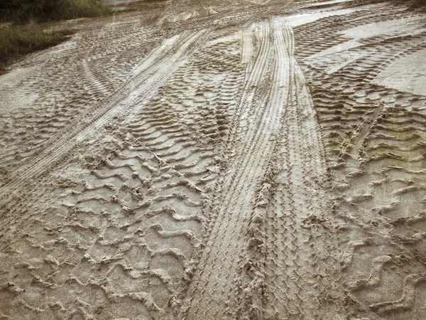
[[[304, 220], [320, 217], [327, 204], [322, 188], [327, 166], [320, 131], [303, 75], [294, 59], [292, 62], [285, 132], [280, 141], [283, 152], [278, 156], [278, 163], [284, 166], [273, 181], [278, 186], [273, 210], [267, 213], [267, 237], [269, 233], [271, 240], [266, 247], [273, 255], [266, 264], [266, 285], [275, 300], [266, 305], [275, 311], [274, 316], [283, 319], [309, 318], [315, 309], [313, 294], [305, 284], [312, 277], [314, 259], [305, 248], [309, 233], [302, 226]], [[274, 225], [275, 220], [281, 223]], [[275, 274], [275, 279], [269, 274]]]

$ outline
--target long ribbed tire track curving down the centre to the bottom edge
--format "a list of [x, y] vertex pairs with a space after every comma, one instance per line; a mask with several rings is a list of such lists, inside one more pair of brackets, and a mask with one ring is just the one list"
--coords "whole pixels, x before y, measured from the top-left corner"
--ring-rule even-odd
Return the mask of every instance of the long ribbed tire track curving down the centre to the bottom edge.
[[[245, 139], [240, 142], [241, 146], [237, 145], [236, 147], [242, 156], [239, 156], [235, 164], [231, 166], [223, 183], [222, 194], [224, 196], [219, 200], [222, 203], [222, 210], [219, 211], [217, 220], [212, 226], [207, 248], [200, 261], [199, 273], [196, 274], [192, 287], [190, 287], [188, 296], [193, 298], [187, 302], [187, 310], [184, 309], [186, 311], [185, 319], [222, 319], [225, 314], [225, 299], [226, 297], [229, 299], [233, 279], [235, 279], [239, 266], [241, 266], [240, 255], [244, 252], [246, 246], [246, 233], [244, 230], [249, 226], [248, 218], [252, 208], [255, 206], [256, 198], [258, 198], [256, 197], [256, 189], [261, 182], [263, 174], [266, 172], [266, 166], [277, 143], [276, 139], [282, 127], [280, 119], [283, 117], [283, 112], [288, 112], [285, 111], [287, 107], [283, 109], [282, 106], [283, 102], [288, 100], [290, 74], [293, 72], [293, 81], [296, 78], [295, 71], [290, 68], [290, 61], [294, 60], [294, 58], [290, 58], [290, 56], [293, 57], [293, 37], [288, 26], [281, 26], [280, 23], [275, 23], [275, 21], [269, 23], [273, 24], [273, 32], [270, 32], [273, 38], [275, 58], [272, 87], [269, 91], [266, 105], [256, 105], [258, 110], [254, 111], [254, 119], [258, 117], [258, 121], [249, 122], [244, 136]], [[265, 35], [263, 38], [269, 41], [271, 37]], [[262, 43], [260, 50], [263, 49], [262, 47], [267, 46], [268, 43]], [[266, 52], [269, 50], [266, 50]], [[257, 70], [255, 64], [252, 75], [257, 75]], [[249, 77], [249, 81], [256, 82], [257, 78], [252, 77], [252, 75]], [[254, 80], [251, 80], [253, 78]], [[297, 78], [300, 78], [300, 75], [297, 75]], [[296, 88], [293, 88], [291, 97], [295, 101], [291, 102], [290, 105], [297, 109], [297, 103], [305, 105], [306, 98], [301, 95], [299, 100], [297, 100], [295, 95], [298, 94], [297, 90], [300, 90], [300, 85], [297, 86], [296, 84], [294, 86]], [[241, 102], [245, 102], [247, 104], [246, 109], [249, 109], [249, 103], [246, 101], [243, 93]], [[264, 110], [261, 110], [262, 107]], [[312, 107], [312, 102], [310, 107]], [[315, 124], [312, 110], [310, 112], [304, 110], [303, 113], [307, 114], [307, 117], [310, 117], [310, 121], [313, 120]], [[293, 116], [291, 120], [295, 122], [297, 118]], [[290, 132], [290, 134], [293, 134], [293, 139], [297, 139], [299, 137], [297, 122], [293, 124], [293, 127], [293, 132]], [[305, 124], [302, 129], [309, 129], [312, 132], [315, 127], [307, 127]], [[306, 138], [317, 142], [317, 138], [314, 139], [308, 135]], [[296, 146], [293, 146], [293, 149], [295, 149], [295, 154], [297, 154], [299, 150]], [[320, 153], [320, 156], [323, 156], [323, 154]], [[297, 160], [302, 165], [305, 160], [309, 161], [310, 159], [308, 156], [305, 156], [305, 158], [292, 160]], [[313, 161], [315, 163], [318, 162], [315, 158]], [[319, 161], [319, 164], [321, 163]], [[314, 172], [315, 170], [317, 169], [314, 169]], [[302, 179], [303, 173], [298, 173], [293, 169], [294, 172], [296, 172], [295, 174], [299, 180]], [[301, 203], [306, 200], [301, 199], [298, 206], [301, 206]], [[302, 211], [302, 208], [297, 209]], [[226, 225], [224, 225], [225, 221]], [[217, 299], [221, 300], [215, 299], [212, 301], [207, 297], [217, 297]]]

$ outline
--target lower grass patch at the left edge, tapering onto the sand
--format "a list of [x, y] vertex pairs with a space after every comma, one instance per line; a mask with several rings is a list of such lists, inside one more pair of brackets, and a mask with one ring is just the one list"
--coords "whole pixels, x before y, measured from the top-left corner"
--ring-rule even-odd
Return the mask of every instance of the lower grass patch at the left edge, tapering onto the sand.
[[45, 31], [45, 25], [28, 24], [0, 28], [0, 73], [6, 66], [28, 53], [55, 46], [75, 31]]

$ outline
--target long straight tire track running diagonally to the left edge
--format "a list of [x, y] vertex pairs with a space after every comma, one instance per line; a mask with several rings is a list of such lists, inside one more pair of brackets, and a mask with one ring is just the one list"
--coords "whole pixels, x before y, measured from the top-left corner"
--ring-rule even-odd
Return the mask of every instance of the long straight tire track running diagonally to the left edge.
[[[94, 110], [97, 111], [94, 112], [94, 110], [92, 110], [94, 113], [93, 116], [82, 122], [73, 121], [72, 124], [75, 125], [74, 128], [48, 146], [48, 148], [33, 159], [33, 161], [30, 161], [26, 166], [19, 169], [16, 174], [11, 176], [13, 182], [2, 186], [0, 191], [7, 188], [10, 196], [16, 189], [21, 188], [28, 179], [31, 179], [33, 176], [40, 176], [48, 166], [51, 166], [55, 161], [65, 156], [75, 144], [89, 137], [97, 128], [102, 127], [125, 108], [134, 105], [141, 96], [143, 99], [149, 100], [153, 92], [165, 82], [168, 76], [179, 67], [182, 61], [200, 46], [208, 35], [209, 31], [206, 30], [187, 35], [182, 39], [175, 53], [166, 55], [165, 58], [160, 59], [158, 63], [152, 65], [151, 68], [146, 69], [143, 73], [137, 75], [136, 78], [132, 78], [114, 95], [114, 97], [111, 97], [108, 102], [101, 102], [98, 107], [95, 107]], [[93, 114], [92, 112], [91, 114]]]

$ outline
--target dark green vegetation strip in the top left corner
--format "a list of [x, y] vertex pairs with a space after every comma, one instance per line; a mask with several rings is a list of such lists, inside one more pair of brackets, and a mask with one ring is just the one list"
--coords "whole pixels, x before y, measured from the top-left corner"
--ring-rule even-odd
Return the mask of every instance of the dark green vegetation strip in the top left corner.
[[47, 22], [111, 13], [99, 0], [2, 0], [0, 20], [15, 24]]

